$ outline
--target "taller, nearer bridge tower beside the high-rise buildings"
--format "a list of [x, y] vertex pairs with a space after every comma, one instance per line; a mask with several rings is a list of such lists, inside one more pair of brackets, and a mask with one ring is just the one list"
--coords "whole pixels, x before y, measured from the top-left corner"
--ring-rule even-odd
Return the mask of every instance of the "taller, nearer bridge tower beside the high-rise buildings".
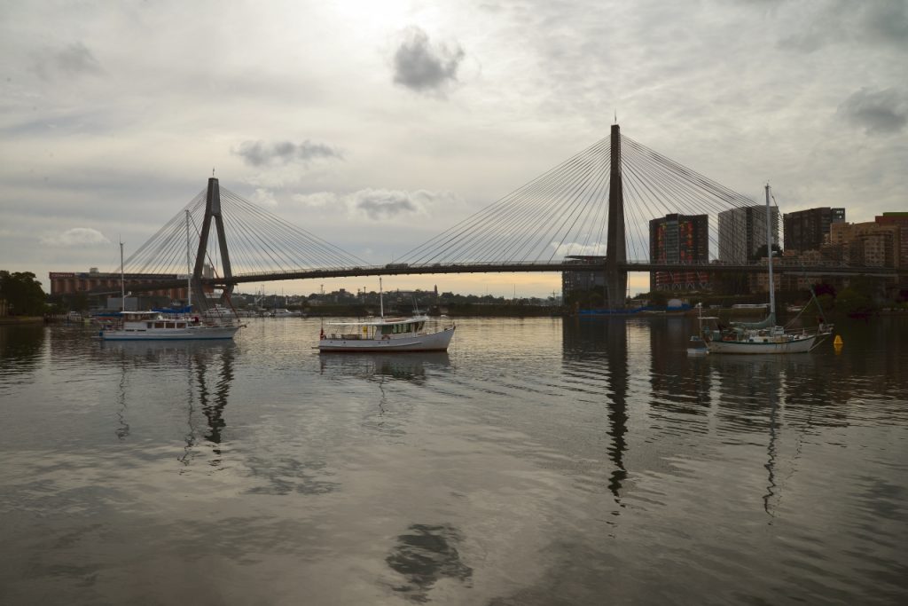
[[611, 166], [608, 178], [608, 231], [606, 237], [606, 298], [608, 309], [624, 309], [627, 272], [619, 263], [627, 262], [624, 224], [624, 187], [621, 182], [621, 129], [612, 124]]

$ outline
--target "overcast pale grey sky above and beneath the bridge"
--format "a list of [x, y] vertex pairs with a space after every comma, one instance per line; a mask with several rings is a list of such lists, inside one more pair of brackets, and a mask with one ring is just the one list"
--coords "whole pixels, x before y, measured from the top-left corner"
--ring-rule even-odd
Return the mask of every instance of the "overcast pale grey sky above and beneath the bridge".
[[[0, 0], [0, 269], [113, 271], [205, 187], [389, 263], [607, 136], [782, 212], [908, 211], [908, 2]], [[633, 274], [632, 290], [646, 290]], [[375, 282], [376, 284], [371, 284]], [[373, 278], [269, 283], [269, 293]], [[557, 274], [388, 278], [548, 296]], [[251, 292], [246, 286], [243, 292]]]

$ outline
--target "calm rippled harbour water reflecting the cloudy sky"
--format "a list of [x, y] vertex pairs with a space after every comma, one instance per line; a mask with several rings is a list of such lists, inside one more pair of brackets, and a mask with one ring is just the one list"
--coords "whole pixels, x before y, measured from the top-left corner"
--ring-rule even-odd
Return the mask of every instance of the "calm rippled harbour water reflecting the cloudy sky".
[[904, 603], [908, 319], [688, 357], [682, 318], [447, 354], [0, 326], [4, 604]]

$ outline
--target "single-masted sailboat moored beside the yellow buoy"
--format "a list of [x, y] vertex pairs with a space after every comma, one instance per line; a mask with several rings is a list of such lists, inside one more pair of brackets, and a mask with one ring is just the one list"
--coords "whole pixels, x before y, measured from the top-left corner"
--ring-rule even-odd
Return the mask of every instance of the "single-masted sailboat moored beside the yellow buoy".
[[766, 184], [766, 261], [769, 270], [769, 315], [755, 323], [733, 322], [726, 328], [703, 328], [700, 334], [709, 353], [807, 353], [833, 332], [832, 324], [821, 323], [812, 330], [786, 331], [775, 324], [775, 280], [773, 279], [773, 233], [770, 225], [769, 184]]

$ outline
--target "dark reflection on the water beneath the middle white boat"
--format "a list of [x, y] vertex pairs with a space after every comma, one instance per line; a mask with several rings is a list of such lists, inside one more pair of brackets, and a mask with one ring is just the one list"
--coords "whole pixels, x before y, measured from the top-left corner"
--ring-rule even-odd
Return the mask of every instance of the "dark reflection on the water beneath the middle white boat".
[[450, 367], [447, 352], [424, 353], [345, 353], [320, 356], [321, 374], [328, 377], [390, 378], [424, 383], [427, 370], [444, 371]]

